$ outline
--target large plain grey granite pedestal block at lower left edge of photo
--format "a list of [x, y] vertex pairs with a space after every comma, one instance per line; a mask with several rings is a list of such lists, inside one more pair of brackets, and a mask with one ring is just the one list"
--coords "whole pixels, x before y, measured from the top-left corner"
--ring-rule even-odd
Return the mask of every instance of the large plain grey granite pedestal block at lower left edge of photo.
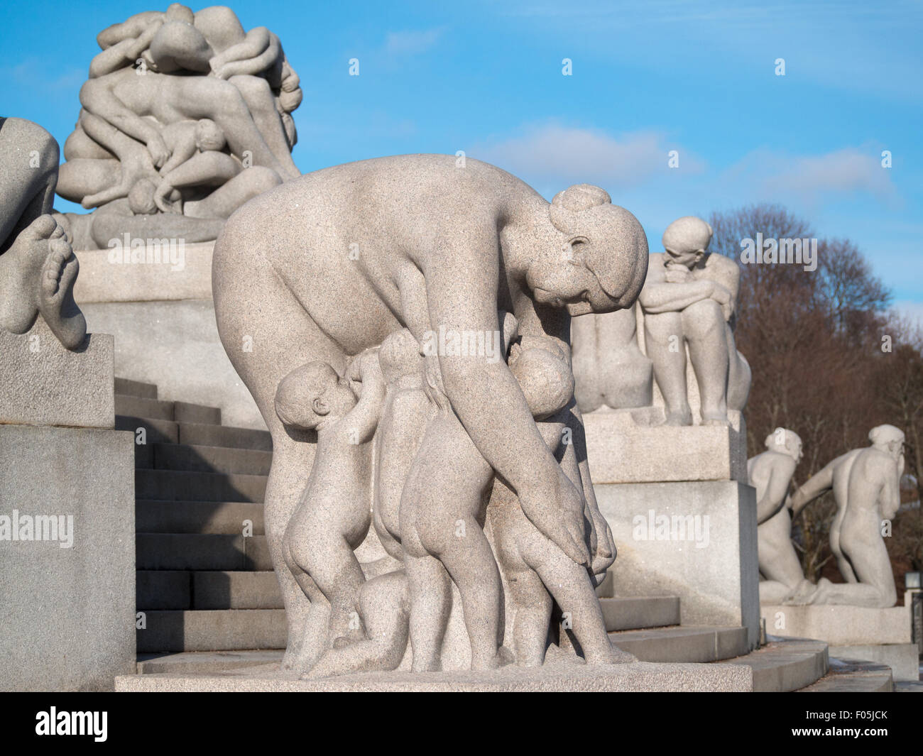
[[[112, 690], [134, 671], [134, 494], [131, 433], [0, 426], [3, 690]], [[13, 541], [14, 510], [20, 536], [23, 518], [65, 527]]]

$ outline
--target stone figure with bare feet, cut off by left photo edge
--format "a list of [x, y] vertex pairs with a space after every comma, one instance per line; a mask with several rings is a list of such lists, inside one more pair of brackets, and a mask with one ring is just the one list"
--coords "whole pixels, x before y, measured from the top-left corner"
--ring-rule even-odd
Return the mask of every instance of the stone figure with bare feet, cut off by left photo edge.
[[77, 348], [87, 321], [74, 302], [79, 264], [51, 215], [58, 146], [41, 126], [0, 119], [0, 328], [26, 333], [41, 313]]

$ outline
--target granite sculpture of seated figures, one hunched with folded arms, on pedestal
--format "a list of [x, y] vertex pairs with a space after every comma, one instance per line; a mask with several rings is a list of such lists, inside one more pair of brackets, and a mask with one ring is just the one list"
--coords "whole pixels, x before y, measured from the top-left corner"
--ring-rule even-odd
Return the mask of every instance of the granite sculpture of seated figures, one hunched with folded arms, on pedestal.
[[[734, 341], [737, 264], [710, 254], [712, 227], [686, 216], [652, 253], [638, 306], [576, 318], [577, 402], [584, 413], [636, 410], [640, 425], [734, 425], [747, 403], [750, 369]], [[688, 372], [694, 373], [689, 385]], [[697, 396], [690, 395], [696, 390]], [[654, 391], [656, 389], [656, 391]]]

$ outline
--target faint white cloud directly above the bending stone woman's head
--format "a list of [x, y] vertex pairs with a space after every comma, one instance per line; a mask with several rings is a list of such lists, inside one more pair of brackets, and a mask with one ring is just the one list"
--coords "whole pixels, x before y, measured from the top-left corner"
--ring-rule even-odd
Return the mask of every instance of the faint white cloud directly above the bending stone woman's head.
[[[679, 168], [667, 166], [669, 151]], [[609, 189], [637, 186], [656, 174], [699, 173], [703, 163], [658, 131], [613, 137], [601, 129], [546, 124], [527, 126], [521, 136], [474, 145], [470, 157], [492, 162], [536, 184], [598, 184]]]

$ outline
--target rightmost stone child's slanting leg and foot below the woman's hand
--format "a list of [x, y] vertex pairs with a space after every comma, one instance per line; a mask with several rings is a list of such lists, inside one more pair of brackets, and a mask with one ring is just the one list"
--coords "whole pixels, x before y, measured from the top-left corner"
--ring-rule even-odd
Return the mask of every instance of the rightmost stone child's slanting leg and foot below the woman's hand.
[[538, 539], [545, 543], [533, 544], [525, 555], [526, 561], [555, 597], [564, 616], [569, 618], [569, 629], [581, 644], [583, 658], [588, 664], [634, 661], [634, 656], [625, 654], [609, 641], [603, 609], [586, 569], [536, 532], [534, 540]]

